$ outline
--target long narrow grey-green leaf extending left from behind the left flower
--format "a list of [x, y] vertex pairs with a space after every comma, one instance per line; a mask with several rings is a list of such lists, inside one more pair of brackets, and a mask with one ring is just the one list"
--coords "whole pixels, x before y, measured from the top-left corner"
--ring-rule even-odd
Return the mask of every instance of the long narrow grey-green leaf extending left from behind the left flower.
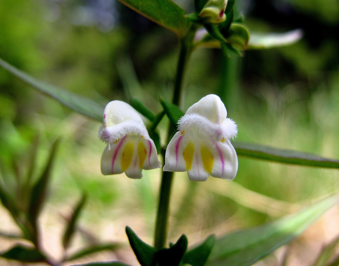
[[2, 59], [0, 59], [0, 66], [7, 69], [9, 72], [11, 72], [13, 75], [20, 78], [24, 82], [28, 83], [39, 92], [54, 98], [55, 100], [61, 102], [65, 106], [71, 108], [72, 110], [84, 116], [102, 122], [102, 114], [104, 112], [105, 106], [98, 104], [97, 102], [92, 101], [83, 96], [77, 95], [72, 92], [68, 92], [56, 86], [52, 86], [43, 81], [40, 81], [28, 75], [27, 73], [15, 68], [14, 66], [8, 64]]

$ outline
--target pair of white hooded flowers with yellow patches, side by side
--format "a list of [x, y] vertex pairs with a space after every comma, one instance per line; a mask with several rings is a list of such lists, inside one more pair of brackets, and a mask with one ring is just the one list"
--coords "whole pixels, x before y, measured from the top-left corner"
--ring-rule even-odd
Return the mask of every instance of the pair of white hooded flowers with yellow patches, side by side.
[[[205, 181], [210, 175], [234, 179], [238, 158], [230, 139], [237, 135], [237, 125], [226, 116], [225, 105], [214, 94], [188, 108], [167, 146], [163, 170], [187, 171], [191, 181]], [[161, 167], [146, 126], [129, 104], [108, 103], [98, 135], [107, 144], [101, 158], [104, 175], [125, 172], [130, 178], [141, 178], [142, 169]]]

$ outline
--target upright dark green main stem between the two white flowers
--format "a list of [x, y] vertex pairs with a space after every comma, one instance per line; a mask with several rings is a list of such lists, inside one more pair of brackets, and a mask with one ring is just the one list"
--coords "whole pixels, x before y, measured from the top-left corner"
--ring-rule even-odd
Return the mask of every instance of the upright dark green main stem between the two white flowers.
[[[180, 40], [179, 60], [174, 81], [174, 90], [172, 99], [172, 103], [178, 106], [181, 100], [185, 70], [187, 68], [187, 64], [193, 50], [193, 40], [196, 30], [197, 27], [195, 25], [192, 25], [190, 30], [187, 32], [186, 36]], [[173, 133], [175, 131], [176, 128], [170, 125], [168, 128], [167, 143], [171, 140]], [[164, 152], [162, 155], [163, 158], [165, 158]], [[159, 192], [157, 219], [155, 225], [155, 237], [154, 237], [155, 249], [159, 249], [166, 246], [169, 199], [171, 196], [172, 183], [173, 183], [173, 172], [163, 171]]]

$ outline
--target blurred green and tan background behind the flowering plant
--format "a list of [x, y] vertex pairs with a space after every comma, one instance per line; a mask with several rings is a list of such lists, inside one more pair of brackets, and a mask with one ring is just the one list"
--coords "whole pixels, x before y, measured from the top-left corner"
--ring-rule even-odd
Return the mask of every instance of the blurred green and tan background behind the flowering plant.
[[[176, 2], [187, 12], [193, 10], [193, 1]], [[251, 0], [238, 1], [237, 8], [250, 31], [301, 28], [303, 39], [288, 47], [245, 51], [244, 57], [231, 60], [217, 49], [197, 49], [187, 73], [183, 111], [215, 93], [238, 124], [236, 141], [339, 158], [339, 2]], [[155, 113], [161, 111], [158, 99], [171, 99], [177, 54], [175, 34], [114, 0], [0, 2], [1, 58], [104, 104], [133, 96]], [[159, 128], [163, 139], [166, 122]], [[62, 138], [50, 205], [45, 208], [46, 217], [54, 218], [44, 220], [46, 231], [52, 232], [46, 246], [55, 254], [60, 250], [51, 239], [62, 227], [58, 217], [70, 211], [69, 202], [83, 190], [89, 198], [82, 224], [98, 239], [126, 242], [123, 229], [128, 224], [152, 243], [160, 171], [146, 171], [141, 180], [124, 174], [103, 176], [99, 126], [0, 69], [2, 167], [10, 168], [14, 158], [24, 162], [37, 133], [41, 166], [50, 143]], [[177, 173], [169, 237], [175, 241], [185, 233], [194, 243], [212, 232], [221, 234], [293, 213], [338, 192], [338, 177], [337, 170], [246, 158], [239, 158], [233, 182], [209, 178], [196, 184], [186, 173]], [[5, 181], [11, 184], [10, 178]], [[11, 228], [11, 220], [2, 219], [2, 231]], [[337, 225], [332, 226], [317, 227], [318, 235], [299, 240], [302, 249], [310, 251], [310, 241], [318, 247], [338, 234]], [[80, 236], [78, 241], [83, 241]], [[1, 242], [3, 247], [10, 245], [5, 239]], [[277, 258], [266, 259], [267, 265]]]

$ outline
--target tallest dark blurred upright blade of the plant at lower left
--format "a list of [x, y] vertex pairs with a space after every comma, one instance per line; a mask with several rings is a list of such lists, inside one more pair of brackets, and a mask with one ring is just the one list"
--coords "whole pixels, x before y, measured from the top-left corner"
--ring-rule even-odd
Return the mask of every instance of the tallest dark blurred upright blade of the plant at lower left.
[[49, 158], [47, 160], [46, 166], [40, 178], [36, 181], [31, 191], [31, 197], [30, 197], [29, 206], [28, 206], [28, 221], [32, 224], [33, 230], [35, 231], [35, 233], [37, 233], [37, 224], [36, 224], [37, 218], [43, 207], [44, 201], [46, 199], [48, 183], [51, 177], [52, 166], [53, 166], [58, 144], [59, 144], [59, 140], [56, 140], [53, 143], [51, 151], [49, 153]]

